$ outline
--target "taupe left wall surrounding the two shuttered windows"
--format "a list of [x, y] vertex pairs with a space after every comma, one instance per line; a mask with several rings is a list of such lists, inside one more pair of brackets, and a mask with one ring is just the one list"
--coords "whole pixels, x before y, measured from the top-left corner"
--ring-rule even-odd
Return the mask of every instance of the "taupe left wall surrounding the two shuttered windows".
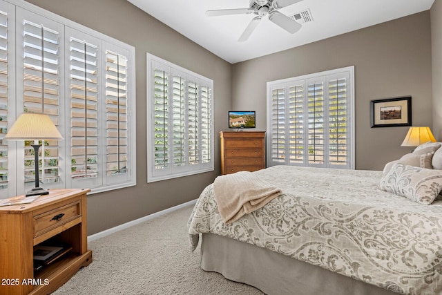
[[[137, 186], [88, 197], [88, 234], [195, 200], [220, 173], [219, 126], [231, 107], [231, 64], [216, 57], [125, 0], [29, 0], [93, 30], [135, 46]], [[86, 8], [87, 9], [84, 9]], [[146, 52], [213, 79], [215, 171], [147, 184]]]

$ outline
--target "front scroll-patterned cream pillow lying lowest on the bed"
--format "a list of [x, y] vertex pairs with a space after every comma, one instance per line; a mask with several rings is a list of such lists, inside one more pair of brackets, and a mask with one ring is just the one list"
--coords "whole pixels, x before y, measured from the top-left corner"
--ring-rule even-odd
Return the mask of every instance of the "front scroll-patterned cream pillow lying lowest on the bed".
[[379, 189], [431, 204], [442, 191], [442, 171], [396, 163], [381, 178]]

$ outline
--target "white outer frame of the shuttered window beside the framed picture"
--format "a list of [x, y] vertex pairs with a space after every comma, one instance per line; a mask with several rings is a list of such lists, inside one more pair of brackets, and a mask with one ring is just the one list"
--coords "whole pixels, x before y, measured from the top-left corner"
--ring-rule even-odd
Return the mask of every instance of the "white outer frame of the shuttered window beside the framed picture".
[[[338, 73], [343, 73], [343, 72], [347, 72], [349, 73], [349, 88], [348, 88], [348, 93], [350, 95], [349, 97], [349, 101], [348, 101], [348, 108], [347, 110], [349, 111], [349, 135], [351, 136], [349, 142], [348, 142], [348, 146], [349, 146], [349, 152], [348, 152], [348, 159], [349, 159], [349, 164], [339, 167], [337, 165], [334, 165], [333, 168], [337, 168], [337, 169], [355, 169], [355, 126], [354, 126], [354, 101], [355, 101], [355, 97], [354, 97], [354, 66], [347, 66], [344, 68], [336, 68], [334, 70], [325, 70], [323, 72], [320, 73], [311, 73], [311, 74], [307, 74], [307, 75], [302, 75], [302, 76], [298, 76], [298, 77], [290, 77], [290, 78], [286, 78], [286, 79], [280, 79], [280, 80], [276, 80], [276, 81], [271, 81], [271, 82], [267, 82], [267, 137], [269, 138], [269, 140], [267, 140], [267, 162], [269, 162], [269, 166], [271, 165], [271, 135], [272, 135], [272, 126], [271, 126], [271, 89], [272, 86], [276, 86], [276, 85], [280, 85], [282, 87], [287, 86], [288, 84], [290, 84], [291, 82], [295, 82], [295, 81], [300, 81], [300, 80], [309, 80], [309, 79], [315, 79], [316, 77], [321, 77], [321, 76], [327, 76], [327, 81], [328, 81], [328, 76], [331, 75], [336, 75]], [[328, 117], [328, 114], [326, 114], [326, 116]], [[307, 134], [307, 133], [305, 133]], [[315, 164], [307, 164], [306, 159], [304, 160], [304, 163], [302, 164], [302, 166], [316, 166]], [[329, 163], [325, 163], [324, 165], [320, 165], [323, 167], [329, 167]]]

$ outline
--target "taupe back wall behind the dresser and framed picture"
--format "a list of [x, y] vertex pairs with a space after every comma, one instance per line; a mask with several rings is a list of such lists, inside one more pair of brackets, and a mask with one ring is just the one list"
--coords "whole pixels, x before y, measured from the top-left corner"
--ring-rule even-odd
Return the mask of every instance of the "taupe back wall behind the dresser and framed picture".
[[265, 131], [266, 82], [344, 66], [355, 66], [356, 169], [381, 170], [411, 151], [408, 127], [370, 128], [370, 100], [411, 95], [412, 124], [432, 126], [429, 11], [234, 64], [233, 108], [256, 109]]

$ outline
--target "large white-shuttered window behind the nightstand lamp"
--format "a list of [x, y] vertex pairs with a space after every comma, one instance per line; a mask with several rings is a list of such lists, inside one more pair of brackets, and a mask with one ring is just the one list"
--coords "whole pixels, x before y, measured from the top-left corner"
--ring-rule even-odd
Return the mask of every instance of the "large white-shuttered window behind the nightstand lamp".
[[133, 46], [0, 0], [0, 198], [35, 184], [31, 142], [3, 140], [23, 112], [48, 114], [64, 137], [39, 150], [46, 189], [135, 185], [134, 58]]

